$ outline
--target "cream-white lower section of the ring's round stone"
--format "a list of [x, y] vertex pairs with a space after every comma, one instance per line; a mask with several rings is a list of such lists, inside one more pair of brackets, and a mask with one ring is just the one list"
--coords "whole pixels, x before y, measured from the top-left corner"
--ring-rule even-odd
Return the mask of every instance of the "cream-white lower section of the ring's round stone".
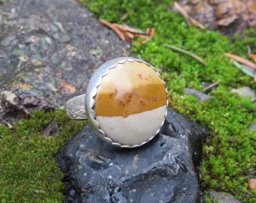
[[152, 138], [163, 124], [166, 105], [129, 117], [96, 117], [99, 128], [108, 138], [121, 145], [142, 144]]

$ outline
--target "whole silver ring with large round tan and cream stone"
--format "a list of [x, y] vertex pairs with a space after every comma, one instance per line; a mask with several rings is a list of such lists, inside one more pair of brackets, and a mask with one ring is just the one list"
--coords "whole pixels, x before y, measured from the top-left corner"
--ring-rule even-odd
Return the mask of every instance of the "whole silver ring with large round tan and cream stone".
[[165, 83], [140, 59], [121, 57], [101, 65], [84, 95], [66, 102], [66, 114], [87, 120], [93, 132], [117, 147], [139, 147], [163, 126], [168, 106]]

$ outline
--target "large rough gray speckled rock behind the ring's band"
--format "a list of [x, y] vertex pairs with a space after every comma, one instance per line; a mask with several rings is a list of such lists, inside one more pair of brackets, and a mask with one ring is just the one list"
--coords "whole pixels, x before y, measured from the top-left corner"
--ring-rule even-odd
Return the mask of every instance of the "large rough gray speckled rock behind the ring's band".
[[85, 92], [95, 68], [130, 56], [129, 48], [75, 0], [0, 5], [0, 94], [8, 91], [0, 97], [0, 123], [64, 105]]

